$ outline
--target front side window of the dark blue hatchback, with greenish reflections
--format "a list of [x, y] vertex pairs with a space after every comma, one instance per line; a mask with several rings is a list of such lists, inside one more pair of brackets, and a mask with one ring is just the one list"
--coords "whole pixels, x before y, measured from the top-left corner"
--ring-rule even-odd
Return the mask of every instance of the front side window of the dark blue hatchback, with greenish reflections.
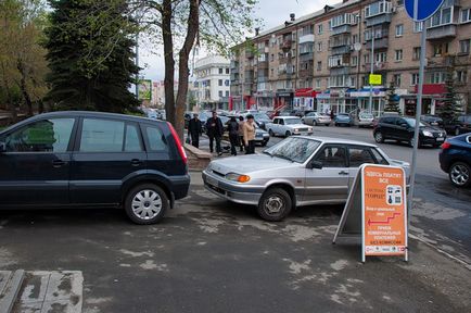
[[50, 118], [29, 124], [5, 138], [7, 152], [65, 152], [75, 118]]

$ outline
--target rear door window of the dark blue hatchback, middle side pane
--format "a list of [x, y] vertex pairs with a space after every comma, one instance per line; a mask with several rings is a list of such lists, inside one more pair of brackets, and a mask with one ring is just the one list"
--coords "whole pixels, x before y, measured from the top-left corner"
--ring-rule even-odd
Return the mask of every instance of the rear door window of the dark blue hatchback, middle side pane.
[[80, 152], [122, 152], [125, 122], [100, 118], [84, 118]]

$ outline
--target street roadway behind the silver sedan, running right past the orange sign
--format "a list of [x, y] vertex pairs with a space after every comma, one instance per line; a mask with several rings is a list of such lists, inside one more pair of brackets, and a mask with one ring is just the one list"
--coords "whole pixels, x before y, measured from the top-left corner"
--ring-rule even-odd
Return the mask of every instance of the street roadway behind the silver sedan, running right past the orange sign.
[[[314, 135], [375, 143], [372, 130], [357, 127], [314, 127]], [[270, 138], [269, 147], [284, 138]], [[393, 159], [412, 160], [412, 149], [387, 141], [378, 145]], [[451, 186], [438, 163], [440, 149], [418, 150], [416, 202], [411, 233], [425, 242], [458, 258], [471, 266], [471, 189]]]

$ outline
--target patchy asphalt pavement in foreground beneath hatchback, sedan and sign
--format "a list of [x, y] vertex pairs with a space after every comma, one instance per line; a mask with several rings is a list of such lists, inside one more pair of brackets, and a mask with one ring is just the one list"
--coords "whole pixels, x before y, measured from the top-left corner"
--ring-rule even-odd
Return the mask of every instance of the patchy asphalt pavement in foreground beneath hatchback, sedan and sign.
[[361, 264], [358, 242], [331, 245], [341, 206], [266, 223], [200, 177], [155, 226], [116, 210], [0, 211], [0, 267], [80, 271], [84, 313], [471, 310], [469, 270], [420, 241], [407, 264]]

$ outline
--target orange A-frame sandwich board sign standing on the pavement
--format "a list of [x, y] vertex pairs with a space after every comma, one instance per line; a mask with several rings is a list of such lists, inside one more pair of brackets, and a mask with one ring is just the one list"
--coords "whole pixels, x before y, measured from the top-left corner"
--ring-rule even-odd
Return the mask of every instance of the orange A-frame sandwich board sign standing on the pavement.
[[361, 236], [361, 261], [407, 251], [406, 174], [396, 166], [364, 164], [348, 195], [335, 233]]

